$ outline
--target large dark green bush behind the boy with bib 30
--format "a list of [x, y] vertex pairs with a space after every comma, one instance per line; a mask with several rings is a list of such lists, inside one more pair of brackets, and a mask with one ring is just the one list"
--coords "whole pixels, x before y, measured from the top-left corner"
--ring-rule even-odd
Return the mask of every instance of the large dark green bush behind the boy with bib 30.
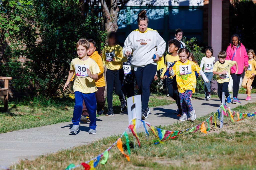
[[[81, 15], [79, 7], [72, 0], [34, 2], [35, 17], [20, 28], [23, 36], [17, 36], [15, 44], [12, 42], [8, 54], [30, 60], [22, 66], [13, 62], [6, 66], [7, 75], [16, 78], [15, 88], [32, 85], [39, 87], [42, 95], [57, 95], [66, 82], [70, 62], [77, 55], [75, 45], [79, 38], [92, 38], [98, 45], [104, 42], [106, 33], [100, 31], [99, 19]], [[13, 73], [19, 69], [25, 71]]]

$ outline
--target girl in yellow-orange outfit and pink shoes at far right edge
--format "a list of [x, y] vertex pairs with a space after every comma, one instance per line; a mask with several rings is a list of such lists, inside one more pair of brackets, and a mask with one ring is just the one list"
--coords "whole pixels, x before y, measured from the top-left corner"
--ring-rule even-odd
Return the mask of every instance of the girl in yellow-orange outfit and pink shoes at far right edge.
[[251, 89], [254, 76], [256, 74], [256, 56], [252, 49], [248, 50], [248, 69], [243, 77], [242, 86], [246, 88], [247, 98], [245, 100], [251, 100]]

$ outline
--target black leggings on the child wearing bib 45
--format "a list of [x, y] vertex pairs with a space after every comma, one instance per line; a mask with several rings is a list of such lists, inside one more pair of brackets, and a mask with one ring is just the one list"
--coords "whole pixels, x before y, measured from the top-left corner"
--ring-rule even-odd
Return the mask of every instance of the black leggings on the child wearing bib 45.
[[113, 101], [113, 90], [115, 87], [115, 93], [119, 96], [119, 99], [123, 98], [122, 91], [122, 81], [124, 77], [123, 68], [120, 70], [109, 70], [106, 71], [106, 81], [107, 81], [107, 101], [108, 108], [112, 108]]

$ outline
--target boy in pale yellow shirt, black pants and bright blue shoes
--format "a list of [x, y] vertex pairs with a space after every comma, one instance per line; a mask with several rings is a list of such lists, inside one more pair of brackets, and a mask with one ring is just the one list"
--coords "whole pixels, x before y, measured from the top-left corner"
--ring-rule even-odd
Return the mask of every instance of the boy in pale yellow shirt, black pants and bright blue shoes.
[[[219, 61], [216, 61], [213, 66], [213, 74], [216, 74], [218, 84], [218, 96], [220, 101], [222, 100], [222, 93], [225, 92], [227, 102], [231, 103], [230, 94], [228, 92], [228, 84], [230, 80], [230, 69], [232, 66], [236, 66], [236, 73], [238, 72], [238, 65], [236, 61], [226, 60], [226, 51], [220, 51], [218, 53]], [[226, 105], [226, 100], [225, 100]]]

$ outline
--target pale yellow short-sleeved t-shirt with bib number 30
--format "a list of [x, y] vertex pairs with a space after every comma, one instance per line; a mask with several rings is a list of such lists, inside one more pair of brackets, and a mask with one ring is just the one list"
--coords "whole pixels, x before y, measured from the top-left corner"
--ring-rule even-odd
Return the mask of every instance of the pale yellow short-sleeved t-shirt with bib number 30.
[[76, 72], [73, 89], [81, 93], [94, 93], [97, 91], [95, 81], [88, 77], [86, 68], [88, 68], [92, 74], [98, 74], [100, 72], [98, 64], [91, 58], [85, 61], [74, 58], [71, 61], [70, 70], [75, 70]]

